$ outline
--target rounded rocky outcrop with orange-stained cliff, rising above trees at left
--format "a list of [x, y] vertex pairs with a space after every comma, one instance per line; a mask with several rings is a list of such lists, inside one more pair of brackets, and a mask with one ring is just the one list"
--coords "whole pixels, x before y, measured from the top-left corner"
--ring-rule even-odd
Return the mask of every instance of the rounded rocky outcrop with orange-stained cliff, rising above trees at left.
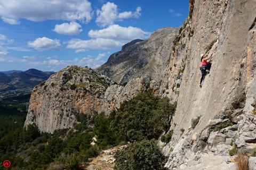
[[42, 132], [70, 128], [76, 122], [75, 114], [102, 110], [111, 83], [92, 69], [69, 66], [34, 88], [25, 126], [35, 123]]

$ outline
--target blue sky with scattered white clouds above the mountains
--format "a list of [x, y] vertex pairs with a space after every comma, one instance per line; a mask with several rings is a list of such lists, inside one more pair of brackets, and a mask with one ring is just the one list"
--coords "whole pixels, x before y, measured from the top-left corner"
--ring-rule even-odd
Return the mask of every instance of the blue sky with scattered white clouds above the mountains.
[[0, 71], [102, 65], [133, 39], [180, 27], [188, 0], [1, 0]]

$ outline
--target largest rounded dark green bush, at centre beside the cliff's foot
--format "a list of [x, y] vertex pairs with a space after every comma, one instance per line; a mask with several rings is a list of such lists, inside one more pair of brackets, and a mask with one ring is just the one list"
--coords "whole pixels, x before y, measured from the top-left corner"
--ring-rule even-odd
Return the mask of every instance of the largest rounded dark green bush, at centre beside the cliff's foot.
[[168, 98], [159, 99], [151, 90], [141, 92], [110, 114], [110, 128], [126, 141], [157, 139], [170, 129], [175, 108]]

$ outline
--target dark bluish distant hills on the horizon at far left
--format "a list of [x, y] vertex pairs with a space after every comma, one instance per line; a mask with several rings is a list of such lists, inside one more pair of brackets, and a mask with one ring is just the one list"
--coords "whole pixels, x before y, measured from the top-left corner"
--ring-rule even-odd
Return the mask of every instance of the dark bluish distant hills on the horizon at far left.
[[34, 86], [47, 80], [52, 74], [54, 72], [43, 72], [36, 69], [0, 72], [0, 94], [13, 90], [33, 89]]

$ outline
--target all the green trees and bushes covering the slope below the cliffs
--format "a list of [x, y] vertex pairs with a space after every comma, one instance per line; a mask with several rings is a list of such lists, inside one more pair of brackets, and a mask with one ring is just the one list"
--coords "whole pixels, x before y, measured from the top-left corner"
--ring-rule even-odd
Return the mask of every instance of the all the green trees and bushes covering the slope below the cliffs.
[[[11, 160], [16, 169], [79, 169], [80, 163], [86, 165], [101, 150], [133, 142], [117, 152], [115, 169], [126, 165], [123, 169], [163, 169], [166, 159], [155, 139], [169, 130], [175, 107], [167, 98], [156, 97], [149, 90], [125, 101], [108, 117], [101, 113], [89, 119], [77, 113], [79, 122], [72, 129], [53, 134], [39, 133], [34, 125], [23, 129], [23, 117], [17, 126], [10, 124], [8, 131], [0, 125], [4, 131], [0, 139], [0, 161]], [[17, 110], [13, 112], [14, 116], [19, 115]], [[95, 145], [91, 145], [93, 137], [97, 138]], [[122, 165], [124, 158], [127, 162]]]

